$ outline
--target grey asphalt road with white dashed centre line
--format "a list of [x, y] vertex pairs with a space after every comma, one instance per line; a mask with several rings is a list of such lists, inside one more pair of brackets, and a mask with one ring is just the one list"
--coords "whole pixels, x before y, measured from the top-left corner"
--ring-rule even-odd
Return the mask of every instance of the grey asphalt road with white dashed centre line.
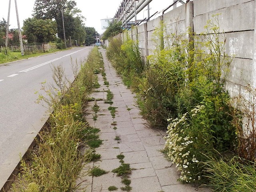
[[0, 66], [0, 189], [12, 174], [47, 119], [47, 108], [36, 104], [42, 82], [51, 83], [52, 65], [61, 64], [74, 80], [73, 62], [84, 61], [91, 47], [73, 48]]

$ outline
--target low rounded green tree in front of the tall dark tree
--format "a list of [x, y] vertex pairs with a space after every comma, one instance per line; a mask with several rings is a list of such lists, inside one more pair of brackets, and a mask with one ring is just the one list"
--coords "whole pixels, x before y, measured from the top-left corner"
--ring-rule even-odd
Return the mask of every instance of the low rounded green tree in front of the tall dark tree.
[[28, 18], [24, 20], [22, 29], [28, 43], [43, 43], [55, 40], [57, 24], [50, 19]]

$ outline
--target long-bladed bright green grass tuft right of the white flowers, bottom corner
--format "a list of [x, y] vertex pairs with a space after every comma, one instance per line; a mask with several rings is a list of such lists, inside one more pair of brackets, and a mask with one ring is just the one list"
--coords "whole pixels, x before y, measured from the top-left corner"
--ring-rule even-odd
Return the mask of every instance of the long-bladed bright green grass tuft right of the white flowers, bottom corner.
[[256, 163], [234, 157], [205, 163], [209, 186], [219, 192], [256, 192]]

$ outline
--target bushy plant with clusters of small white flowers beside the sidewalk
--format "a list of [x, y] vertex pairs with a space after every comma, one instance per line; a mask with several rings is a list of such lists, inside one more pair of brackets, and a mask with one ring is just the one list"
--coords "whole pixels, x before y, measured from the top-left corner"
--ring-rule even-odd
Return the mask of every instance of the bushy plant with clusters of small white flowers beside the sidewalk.
[[180, 180], [183, 182], [198, 182], [201, 179], [201, 170], [198, 164], [198, 137], [190, 134], [193, 119], [204, 109], [198, 105], [185, 113], [181, 118], [168, 119], [168, 136], [165, 137], [165, 149], [176, 167], [181, 171]]

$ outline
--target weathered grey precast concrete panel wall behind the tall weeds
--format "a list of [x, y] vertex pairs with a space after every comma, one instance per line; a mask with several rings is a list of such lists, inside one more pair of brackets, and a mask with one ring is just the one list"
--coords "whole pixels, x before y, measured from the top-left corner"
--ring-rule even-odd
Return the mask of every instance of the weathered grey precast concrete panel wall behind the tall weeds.
[[[164, 23], [163, 47], [170, 33], [186, 34], [188, 28], [194, 35], [187, 38], [202, 39], [204, 26], [218, 14], [219, 28], [225, 36], [225, 52], [232, 56], [226, 89], [230, 96], [242, 93], [248, 84], [256, 87], [256, 0], [194, 0], [127, 31], [132, 40], [138, 40], [143, 58], [156, 49], [154, 31]], [[125, 39], [126, 34], [118, 34]], [[191, 39], [192, 40], [192, 39]], [[104, 42], [108, 46], [108, 40]]]

